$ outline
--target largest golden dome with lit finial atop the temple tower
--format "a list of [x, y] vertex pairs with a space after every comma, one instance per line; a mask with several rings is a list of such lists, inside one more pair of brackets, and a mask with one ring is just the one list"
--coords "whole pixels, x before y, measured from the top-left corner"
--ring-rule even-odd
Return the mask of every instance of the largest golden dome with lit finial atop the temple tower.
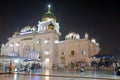
[[50, 11], [50, 5], [48, 5], [48, 11], [42, 16], [42, 21], [50, 20], [52, 19], [53, 21], [56, 22], [56, 17], [55, 15]]

